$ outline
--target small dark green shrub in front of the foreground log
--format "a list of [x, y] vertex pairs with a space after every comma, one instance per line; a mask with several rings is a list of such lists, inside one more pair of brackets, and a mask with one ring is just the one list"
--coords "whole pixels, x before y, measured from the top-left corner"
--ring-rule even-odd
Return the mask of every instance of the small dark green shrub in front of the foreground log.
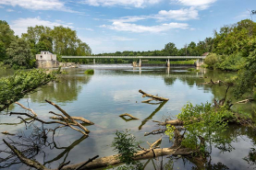
[[122, 163], [125, 163], [125, 166], [120, 166], [118, 169], [142, 169], [142, 164], [133, 160], [133, 155], [138, 152], [138, 144], [135, 137], [126, 131], [116, 130], [116, 138], [112, 142], [112, 147], [114, 151], [117, 151], [119, 154], [118, 158]]

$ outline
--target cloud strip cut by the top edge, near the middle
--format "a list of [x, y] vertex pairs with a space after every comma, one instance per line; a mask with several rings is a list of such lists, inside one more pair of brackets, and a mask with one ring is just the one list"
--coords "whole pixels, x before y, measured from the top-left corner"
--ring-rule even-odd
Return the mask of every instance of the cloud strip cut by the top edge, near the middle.
[[162, 0], [82, 0], [81, 3], [90, 6], [134, 6], [145, 7], [160, 3]]

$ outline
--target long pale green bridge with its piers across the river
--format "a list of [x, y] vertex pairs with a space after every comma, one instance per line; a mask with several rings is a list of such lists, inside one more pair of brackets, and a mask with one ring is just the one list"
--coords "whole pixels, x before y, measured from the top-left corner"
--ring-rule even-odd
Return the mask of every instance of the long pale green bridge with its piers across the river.
[[196, 66], [201, 66], [206, 55], [202, 56], [62, 56], [63, 59], [138, 59], [139, 65], [133, 62], [133, 66], [141, 67], [141, 59], [166, 59], [166, 66], [170, 67], [170, 59], [196, 59]]

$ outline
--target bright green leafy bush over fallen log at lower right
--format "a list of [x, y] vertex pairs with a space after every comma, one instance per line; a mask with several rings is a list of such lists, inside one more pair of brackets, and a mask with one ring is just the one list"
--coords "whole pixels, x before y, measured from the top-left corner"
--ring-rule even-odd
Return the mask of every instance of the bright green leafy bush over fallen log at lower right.
[[[184, 127], [188, 132], [185, 133], [185, 139], [182, 145], [193, 150], [200, 146], [198, 138], [203, 138], [206, 142], [222, 142], [219, 134], [226, 130], [227, 122], [224, 119], [230, 119], [233, 115], [226, 108], [215, 109], [210, 103], [193, 106], [188, 103], [177, 119], [184, 122]], [[200, 148], [202, 151], [205, 148]]]

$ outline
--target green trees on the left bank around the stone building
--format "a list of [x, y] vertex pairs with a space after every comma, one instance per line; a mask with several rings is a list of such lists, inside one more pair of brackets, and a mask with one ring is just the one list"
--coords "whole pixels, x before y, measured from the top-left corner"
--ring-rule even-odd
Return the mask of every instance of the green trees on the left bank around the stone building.
[[51, 51], [60, 55], [90, 55], [91, 48], [79, 40], [77, 32], [71, 28], [58, 26], [48, 28], [43, 26], [29, 27], [21, 38], [6, 21], [0, 20], [0, 62], [6, 68], [35, 67], [35, 54], [41, 51]]

